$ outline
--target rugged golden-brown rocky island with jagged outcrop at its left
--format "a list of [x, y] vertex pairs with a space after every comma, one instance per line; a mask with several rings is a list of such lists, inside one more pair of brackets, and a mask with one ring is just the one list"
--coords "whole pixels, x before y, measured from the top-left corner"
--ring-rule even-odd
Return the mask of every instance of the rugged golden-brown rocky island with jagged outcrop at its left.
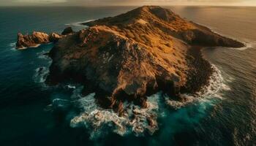
[[184, 20], [170, 9], [144, 6], [110, 18], [82, 23], [78, 32], [18, 33], [18, 49], [55, 42], [45, 81], [57, 85], [73, 80], [83, 95], [95, 93], [97, 104], [120, 115], [124, 101], [146, 108], [147, 97], [162, 91], [183, 101], [208, 84], [213, 69], [200, 47], [244, 47], [205, 26]]

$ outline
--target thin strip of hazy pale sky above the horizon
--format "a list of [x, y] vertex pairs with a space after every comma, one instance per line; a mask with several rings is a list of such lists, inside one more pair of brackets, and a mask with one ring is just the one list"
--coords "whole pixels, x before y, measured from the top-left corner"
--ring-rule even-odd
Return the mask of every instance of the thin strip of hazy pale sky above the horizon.
[[0, 6], [26, 5], [240, 5], [256, 6], [256, 0], [0, 0]]

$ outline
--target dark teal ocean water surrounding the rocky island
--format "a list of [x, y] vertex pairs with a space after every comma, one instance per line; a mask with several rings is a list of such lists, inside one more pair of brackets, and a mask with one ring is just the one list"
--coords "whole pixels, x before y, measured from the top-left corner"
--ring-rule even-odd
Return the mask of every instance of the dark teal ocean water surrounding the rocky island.
[[[79, 22], [134, 8], [0, 7], [0, 145], [256, 145], [256, 7], [168, 7], [246, 47], [203, 48], [216, 72], [199, 97], [171, 107], [161, 94], [149, 97], [151, 109], [140, 112], [157, 114], [153, 134], [134, 134], [125, 119], [97, 107], [93, 95], [80, 97], [80, 85], [45, 85], [50, 59], [43, 54], [53, 44], [15, 49], [19, 31], [78, 31], [86, 28]], [[75, 122], [95, 110], [105, 115], [97, 123]]]

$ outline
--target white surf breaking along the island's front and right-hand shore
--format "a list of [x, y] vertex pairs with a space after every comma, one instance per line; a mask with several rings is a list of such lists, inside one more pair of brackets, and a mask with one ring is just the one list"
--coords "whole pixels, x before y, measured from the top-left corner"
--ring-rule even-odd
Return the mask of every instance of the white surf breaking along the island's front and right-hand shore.
[[167, 96], [163, 96], [159, 92], [148, 96], [148, 108], [145, 109], [133, 103], [124, 102], [123, 116], [118, 116], [118, 113], [113, 110], [106, 110], [99, 107], [94, 98], [95, 93], [82, 96], [82, 86], [67, 86], [67, 88], [73, 90], [70, 100], [54, 99], [53, 105], [56, 103], [62, 105], [67, 102], [69, 104], [75, 104], [74, 107], [78, 107], [80, 113], [72, 116], [70, 126], [73, 128], [86, 128], [89, 131], [90, 139], [97, 139], [110, 133], [116, 133], [121, 136], [134, 134], [137, 137], [144, 136], [145, 134], [154, 134], [159, 129], [157, 120], [159, 118], [165, 118], [167, 113], [169, 113], [169, 108], [166, 108], [166, 105], [178, 112], [179, 109], [183, 109], [181, 107], [185, 108], [188, 104], [195, 103], [199, 105], [198, 108], [205, 108], [206, 105], [213, 104], [211, 102], [212, 98], [222, 99], [218, 92], [220, 90], [228, 90], [228, 87], [223, 83], [222, 72], [219, 71], [217, 66], [212, 65], [212, 68], [214, 69], [214, 73], [210, 77], [209, 84], [195, 95], [182, 95], [186, 99], [185, 101], [170, 100]]

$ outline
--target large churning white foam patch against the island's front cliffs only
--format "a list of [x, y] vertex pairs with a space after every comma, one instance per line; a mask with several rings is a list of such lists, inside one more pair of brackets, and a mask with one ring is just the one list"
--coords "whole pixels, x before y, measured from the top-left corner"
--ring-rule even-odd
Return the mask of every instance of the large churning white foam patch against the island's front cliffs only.
[[[76, 93], [80, 93], [75, 91]], [[89, 129], [91, 139], [97, 139], [109, 131], [124, 136], [135, 134], [143, 136], [146, 132], [154, 134], [157, 131], [157, 111], [159, 110], [159, 93], [148, 97], [148, 108], [141, 109], [132, 103], [124, 103], [124, 116], [119, 117], [113, 110], [105, 110], [96, 104], [95, 93], [75, 101], [83, 112], [72, 118], [71, 127], [85, 126]], [[75, 95], [78, 96], [78, 95]], [[110, 130], [106, 131], [105, 128]]]

